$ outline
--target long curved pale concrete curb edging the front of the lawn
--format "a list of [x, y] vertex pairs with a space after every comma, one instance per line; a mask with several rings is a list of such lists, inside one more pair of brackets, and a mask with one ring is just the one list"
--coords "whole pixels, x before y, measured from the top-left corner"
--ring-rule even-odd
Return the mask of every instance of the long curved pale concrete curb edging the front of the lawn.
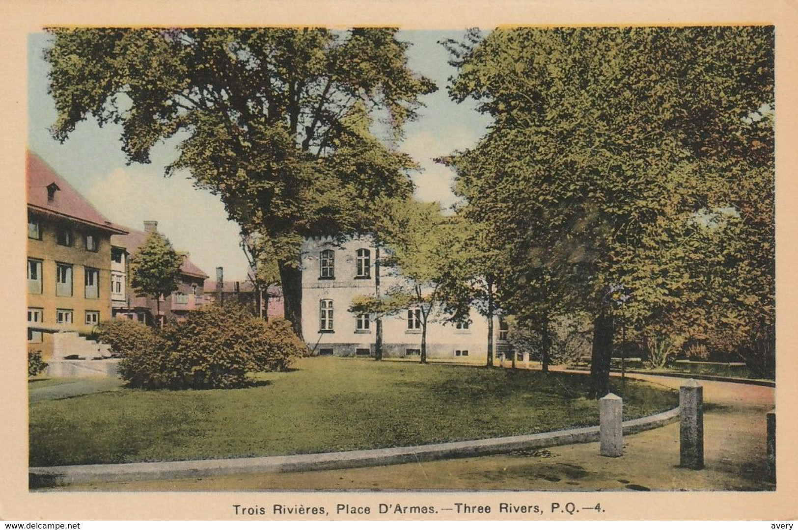
[[[666, 425], [678, 418], [679, 408], [660, 414], [623, 422], [623, 433]], [[444, 460], [565, 446], [573, 443], [597, 442], [599, 427], [555, 430], [550, 433], [523, 434], [503, 438], [486, 438], [466, 442], [447, 442], [426, 446], [391, 447], [338, 453], [291, 454], [279, 457], [227, 458], [219, 460], [186, 460], [141, 462], [133, 464], [58, 465], [29, 469], [29, 486], [46, 488], [58, 485], [103, 481], [146, 481], [175, 478], [198, 478], [235, 473], [288, 473], [347, 469], [374, 465], [404, 464], [413, 461]], [[598, 453], [597, 453], [598, 454]]]

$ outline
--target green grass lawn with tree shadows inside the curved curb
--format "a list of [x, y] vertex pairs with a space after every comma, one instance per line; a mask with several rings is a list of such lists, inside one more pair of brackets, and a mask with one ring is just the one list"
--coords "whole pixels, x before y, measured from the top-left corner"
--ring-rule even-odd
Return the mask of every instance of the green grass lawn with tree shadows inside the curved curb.
[[[30, 465], [412, 446], [599, 422], [585, 375], [337, 358], [296, 367], [241, 390], [120, 388], [31, 402]], [[624, 417], [638, 418], [678, 395], [627, 381], [624, 401]]]

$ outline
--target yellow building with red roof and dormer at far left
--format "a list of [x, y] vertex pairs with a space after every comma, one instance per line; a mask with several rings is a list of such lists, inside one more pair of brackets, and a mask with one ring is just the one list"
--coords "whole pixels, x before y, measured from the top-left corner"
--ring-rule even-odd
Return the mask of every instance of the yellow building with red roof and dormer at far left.
[[28, 343], [51, 358], [53, 334], [77, 339], [111, 318], [111, 238], [127, 231], [30, 152], [26, 179]]

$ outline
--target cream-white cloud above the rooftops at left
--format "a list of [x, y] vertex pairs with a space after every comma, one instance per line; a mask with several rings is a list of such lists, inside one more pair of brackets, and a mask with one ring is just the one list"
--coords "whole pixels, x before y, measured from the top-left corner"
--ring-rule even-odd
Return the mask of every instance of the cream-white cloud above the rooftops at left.
[[144, 220], [157, 221], [175, 249], [190, 253], [192, 262], [211, 278], [217, 266], [224, 267], [229, 279], [246, 277], [238, 225], [227, 220], [218, 198], [196, 190], [185, 176], [166, 179], [149, 167], [117, 167], [97, 180], [86, 196], [121, 225], [143, 230]]

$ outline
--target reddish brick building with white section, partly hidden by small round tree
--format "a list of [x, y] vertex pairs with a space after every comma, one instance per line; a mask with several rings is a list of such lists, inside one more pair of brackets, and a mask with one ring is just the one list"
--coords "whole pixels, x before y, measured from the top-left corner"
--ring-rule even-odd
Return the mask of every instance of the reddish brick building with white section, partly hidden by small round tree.
[[[152, 296], [138, 296], [130, 287], [130, 257], [141, 245], [144, 245], [144, 241], [147, 241], [151, 232], [158, 230], [158, 222], [144, 221], [144, 232], [126, 230], [128, 230], [127, 234], [114, 235], [111, 238], [111, 245], [113, 245], [111, 264], [113, 316], [152, 324], [157, 321], [158, 304]], [[205, 304], [204, 283], [208, 276], [192, 263], [188, 253], [182, 254], [180, 284], [175, 292], [160, 301], [160, 315], [166, 319], [180, 320], [189, 311], [199, 309]]]

